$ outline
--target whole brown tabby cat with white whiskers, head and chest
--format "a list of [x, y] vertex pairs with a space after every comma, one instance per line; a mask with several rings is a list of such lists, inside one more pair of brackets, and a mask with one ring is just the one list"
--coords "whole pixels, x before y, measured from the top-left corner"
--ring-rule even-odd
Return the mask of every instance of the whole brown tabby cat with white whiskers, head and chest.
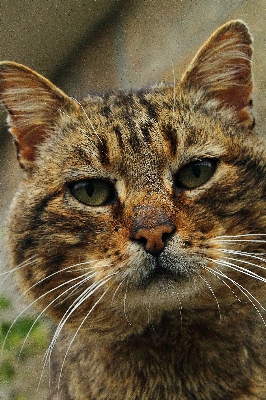
[[266, 399], [266, 146], [252, 39], [221, 26], [177, 86], [68, 97], [0, 64], [23, 180], [11, 266], [57, 323], [50, 399]]

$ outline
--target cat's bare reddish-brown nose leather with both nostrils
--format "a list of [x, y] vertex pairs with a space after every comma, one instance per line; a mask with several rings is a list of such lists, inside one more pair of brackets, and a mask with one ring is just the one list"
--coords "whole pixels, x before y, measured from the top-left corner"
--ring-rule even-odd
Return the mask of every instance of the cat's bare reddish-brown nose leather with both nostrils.
[[165, 247], [166, 237], [173, 232], [169, 225], [159, 225], [154, 228], [140, 228], [135, 233], [134, 239], [142, 242], [149, 253], [160, 253]]

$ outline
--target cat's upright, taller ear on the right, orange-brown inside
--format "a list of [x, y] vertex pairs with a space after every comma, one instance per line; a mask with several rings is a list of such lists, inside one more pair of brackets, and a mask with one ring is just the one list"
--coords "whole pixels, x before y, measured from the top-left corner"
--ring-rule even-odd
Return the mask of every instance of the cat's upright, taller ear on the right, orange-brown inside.
[[[239, 20], [221, 26], [198, 51], [181, 79], [186, 90], [200, 91], [218, 109], [230, 108], [232, 122], [252, 128], [252, 38]], [[229, 115], [229, 114], [227, 114]]]

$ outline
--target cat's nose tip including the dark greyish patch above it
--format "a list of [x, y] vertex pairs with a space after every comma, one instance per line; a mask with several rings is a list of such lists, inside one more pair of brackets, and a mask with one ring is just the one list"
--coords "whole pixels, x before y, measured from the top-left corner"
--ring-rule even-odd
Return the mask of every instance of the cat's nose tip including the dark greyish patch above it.
[[175, 230], [173, 222], [155, 207], [138, 207], [134, 214], [131, 237], [142, 243], [148, 253], [161, 253]]

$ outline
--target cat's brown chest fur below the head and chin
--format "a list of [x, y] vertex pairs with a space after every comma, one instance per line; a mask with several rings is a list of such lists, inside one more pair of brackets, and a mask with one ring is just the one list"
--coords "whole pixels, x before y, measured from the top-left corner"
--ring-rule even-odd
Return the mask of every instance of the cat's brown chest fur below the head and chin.
[[[88, 399], [103, 400], [262, 400], [264, 328], [258, 328], [258, 320], [254, 323], [247, 318], [241, 331], [236, 332], [232, 320], [238, 313], [238, 307], [224, 310], [219, 322], [216, 310], [208, 315], [199, 310], [197, 316], [187, 316], [189, 326], [183, 317], [182, 329], [180, 324], [171, 326], [173, 317], [165, 316], [160, 326], [151, 326], [140, 336], [112, 344], [102, 343], [99, 337], [90, 341], [84, 336], [79, 343], [73, 343], [68, 355], [70, 362], [65, 366], [68, 379], [62, 377], [59, 398], [82, 400], [86, 393]], [[206, 322], [210, 317], [216, 320], [212, 327]], [[254, 340], [254, 335], [258, 340]], [[67, 339], [62, 338], [61, 353], [54, 358], [55, 371], [60, 370], [59, 360]], [[58, 375], [54, 379], [57, 381]], [[51, 399], [57, 395], [55, 388]]]

